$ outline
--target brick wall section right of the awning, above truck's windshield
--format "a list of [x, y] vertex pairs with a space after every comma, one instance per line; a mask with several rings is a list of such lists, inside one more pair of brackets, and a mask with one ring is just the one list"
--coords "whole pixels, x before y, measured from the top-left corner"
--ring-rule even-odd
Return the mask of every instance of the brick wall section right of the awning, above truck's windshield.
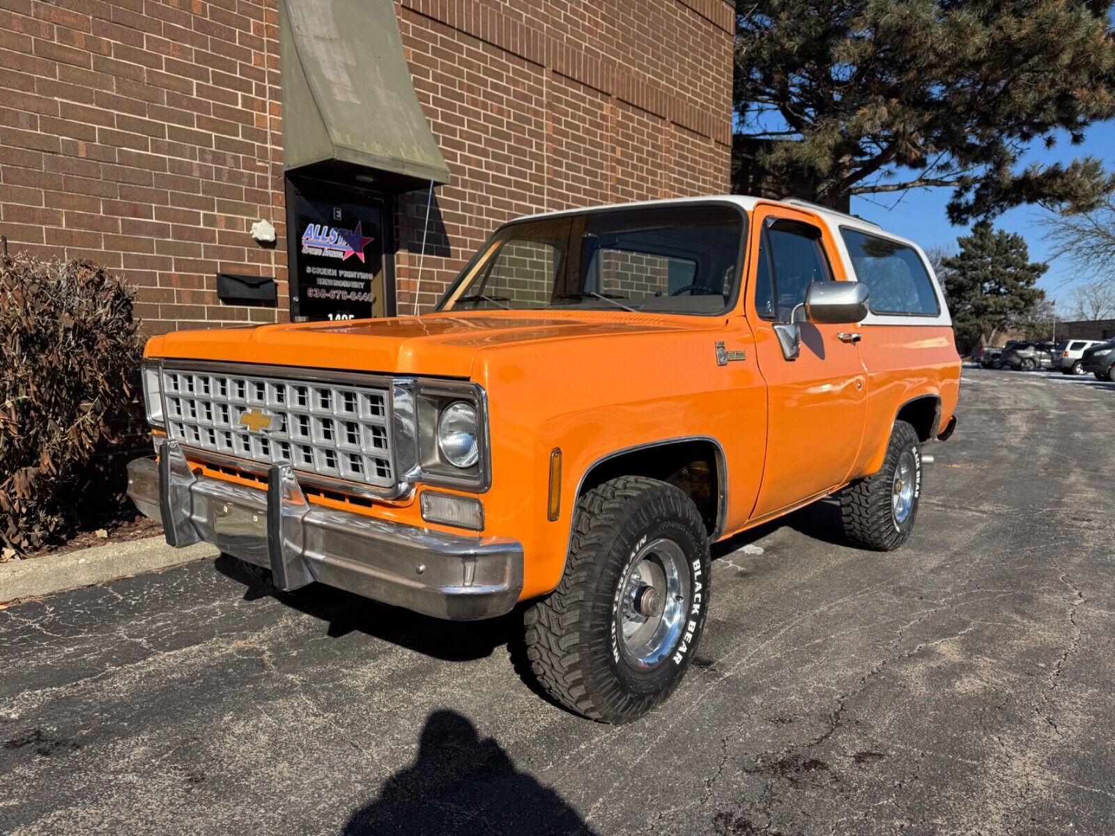
[[[435, 191], [420, 310], [516, 215], [729, 191], [735, 18], [724, 0], [396, 7], [453, 175]], [[398, 214], [398, 308], [409, 313], [426, 193], [406, 195]]]

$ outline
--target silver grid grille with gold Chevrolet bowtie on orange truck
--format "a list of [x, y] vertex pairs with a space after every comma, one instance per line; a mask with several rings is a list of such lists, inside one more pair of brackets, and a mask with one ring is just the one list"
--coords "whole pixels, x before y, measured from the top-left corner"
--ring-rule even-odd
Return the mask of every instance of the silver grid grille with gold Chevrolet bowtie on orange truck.
[[[163, 369], [166, 429], [187, 447], [377, 487], [395, 485], [387, 389]], [[246, 417], [245, 417], [246, 416]], [[249, 431], [252, 420], [270, 427]], [[242, 419], [245, 421], [242, 424]]]

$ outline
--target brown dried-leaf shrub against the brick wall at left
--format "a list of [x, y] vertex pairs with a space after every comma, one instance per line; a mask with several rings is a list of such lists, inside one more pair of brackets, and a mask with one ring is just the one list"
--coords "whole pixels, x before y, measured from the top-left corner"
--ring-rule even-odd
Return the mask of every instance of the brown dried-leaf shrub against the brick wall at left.
[[57, 542], [83, 512], [119, 493], [120, 485], [101, 477], [114, 445], [134, 438], [143, 348], [134, 298], [88, 261], [0, 256], [0, 543], [7, 547]]

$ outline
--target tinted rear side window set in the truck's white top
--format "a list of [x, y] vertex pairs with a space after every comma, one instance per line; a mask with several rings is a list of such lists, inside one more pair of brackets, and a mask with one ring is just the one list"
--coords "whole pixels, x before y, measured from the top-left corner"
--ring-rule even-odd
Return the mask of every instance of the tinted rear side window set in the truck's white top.
[[913, 247], [859, 230], [842, 229], [841, 235], [855, 278], [871, 291], [872, 313], [935, 317], [941, 312], [933, 282]]

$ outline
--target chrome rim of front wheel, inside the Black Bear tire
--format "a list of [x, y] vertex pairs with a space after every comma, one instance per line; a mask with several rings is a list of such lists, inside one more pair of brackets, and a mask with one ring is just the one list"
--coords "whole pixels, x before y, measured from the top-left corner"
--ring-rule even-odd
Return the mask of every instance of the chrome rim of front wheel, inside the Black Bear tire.
[[620, 581], [617, 620], [624, 658], [653, 668], [673, 651], [686, 625], [691, 584], [686, 554], [665, 537], [644, 545]]

